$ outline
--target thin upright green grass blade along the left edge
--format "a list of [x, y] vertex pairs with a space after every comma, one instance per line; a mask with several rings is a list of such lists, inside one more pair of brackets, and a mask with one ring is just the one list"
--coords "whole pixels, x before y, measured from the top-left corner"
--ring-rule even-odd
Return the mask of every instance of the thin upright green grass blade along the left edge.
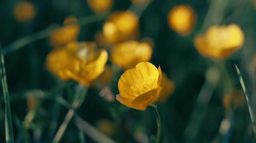
[[12, 117], [11, 117], [11, 107], [9, 101], [9, 92], [8, 92], [8, 85], [6, 79], [6, 71], [5, 71], [5, 61], [4, 61], [4, 54], [2, 51], [2, 46], [0, 43], [0, 53], [1, 53], [1, 81], [2, 81], [2, 88], [3, 88], [3, 95], [5, 98], [5, 133], [6, 133], [6, 142], [12, 143], [14, 142], [13, 137], [13, 130], [12, 130]]

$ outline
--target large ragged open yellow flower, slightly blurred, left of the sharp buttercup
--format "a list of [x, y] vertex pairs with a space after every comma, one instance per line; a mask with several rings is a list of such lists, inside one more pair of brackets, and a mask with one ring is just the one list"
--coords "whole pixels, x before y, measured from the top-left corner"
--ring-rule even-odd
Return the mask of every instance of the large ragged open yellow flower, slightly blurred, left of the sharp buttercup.
[[62, 80], [73, 79], [89, 86], [105, 69], [108, 52], [93, 42], [70, 42], [47, 56], [47, 68]]

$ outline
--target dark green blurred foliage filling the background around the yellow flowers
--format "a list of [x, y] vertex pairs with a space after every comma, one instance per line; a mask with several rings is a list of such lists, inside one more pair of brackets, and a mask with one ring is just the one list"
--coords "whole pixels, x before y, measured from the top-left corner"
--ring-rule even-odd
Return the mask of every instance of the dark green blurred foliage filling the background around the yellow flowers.
[[[68, 16], [80, 19], [100, 15], [94, 13], [96, 9], [90, 9], [86, 0], [31, 0], [27, 2], [34, 7], [26, 8], [31, 14], [18, 20], [20, 18], [14, 14], [19, 2], [0, 1], [0, 41], [4, 50], [17, 39], [61, 25]], [[138, 41], [145, 37], [152, 39], [150, 62], [160, 65], [166, 76], [175, 82], [173, 94], [157, 104], [163, 126], [162, 142], [256, 142], [245, 96], [239, 95], [241, 85], [233, 65], [236, 63], [240, 67], [256, 111], [256, 61], [253, 61], [256, 1], [152, 0], [146, 6], [143, 1], [140, 3], [113, 1], [108, 14], [127, 9], [137, 14]], [[176, 33], [168, 25], [168, 13], [177, 5], [189, 5], [197, 15], [194, 29], [186, 36]], [[95, 35], [102, 32], [107, 19], [106, 16], [80, 25], [77, 40], [97, 42]], [[241, 49], [223, 60], [207, 58], [197, 52], [193, 44], [197, 34], [204, 34], [212, 25], [229, 24], [239, 25], [244, 32]], [[103, 46], [111, 53], [110, 47]], [[60, 81], [46, 68], [46, 57], [52, 50], [48, 36], [5, 55], [15, 142], [51, 142], [67, 113], [67, 107], [58, 97], [65, 99], [66, 105], [74, 100], [77, 82]], [[110, 60], [108, 66], [112, 70], [111, 80], [95, 80], [86, 100], [77, 109], [77, 115], [116, 142], [149, 142], [157, 132], [154, 111], [150, 107], [145, 111], [130, 109], [113, 100], [113, 96], [119, 94], [117, 83], [123, 70]], [[236, 95], [239, 97], [234, 97]], [[0, 99], [0, 142], [5, 142], [2, 94]], [[86, 142], [94, 142], [87, 133], [81, 135], [75, 121], [69, 124], [61, 142], [82, 142], [81, 136]]]

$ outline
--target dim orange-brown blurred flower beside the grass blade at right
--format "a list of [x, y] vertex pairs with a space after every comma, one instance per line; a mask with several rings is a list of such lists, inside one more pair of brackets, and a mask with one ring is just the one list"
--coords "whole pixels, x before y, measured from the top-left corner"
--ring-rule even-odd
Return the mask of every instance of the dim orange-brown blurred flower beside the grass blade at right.
[[226, 109], [236, 109], [241, 105], [245, 105], [245, 103], [245, 96], [241, 90], [234, 90], [223, 97], [223, 104]]

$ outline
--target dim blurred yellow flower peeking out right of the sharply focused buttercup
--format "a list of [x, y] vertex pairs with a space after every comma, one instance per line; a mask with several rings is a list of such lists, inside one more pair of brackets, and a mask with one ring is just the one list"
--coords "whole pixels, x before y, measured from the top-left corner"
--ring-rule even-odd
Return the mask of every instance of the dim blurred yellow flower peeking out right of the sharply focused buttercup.
[[174, 92], [175, 83], [172, 80], [169, 80], [165, 73], [162, 74], [161, 87], [163, 90], [160, 93], [158, 103], [164, 102], [170, 94]]

